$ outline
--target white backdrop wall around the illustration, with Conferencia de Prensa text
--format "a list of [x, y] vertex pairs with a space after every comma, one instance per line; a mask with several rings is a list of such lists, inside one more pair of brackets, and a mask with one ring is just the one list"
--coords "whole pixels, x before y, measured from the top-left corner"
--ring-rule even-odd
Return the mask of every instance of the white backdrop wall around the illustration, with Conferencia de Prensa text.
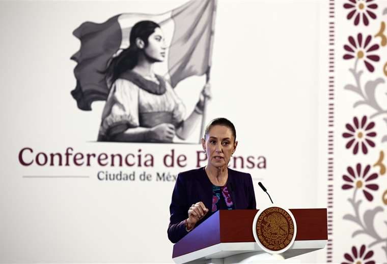
[[[4, 61], [0, 262], [172, 262], [173, 244], [167, 238], [172, 189], [179, 172], [205, 165], [201, 146], [96, 142], [104, 102], [92, 103], [92, 111], [77, 108], [70, 95], [76, 85], [76, 62], [69, 57], [80, 48], [72, 32], [85, 21], [103, 23], [125, 13], [164, 14], [186, 3], [0, 3]], [[330, 245], [300, 256], [302, 262], [346, 261], [344, 254], [351, 254], [352, 246], [360, 252], [366, 243], [356, 239], [369, 238], [361, 234], [351, 240], [356, 223], [343, 219], [354, 212], [347, 199], [355, 188], [342, 189], [347, 184], [342, 175], [351, 177], [347, 167], [355, 172], [361, 163], [364, 172], [370, 164], [367, 175], [378, 174], [375, 179], [364, 178], [379, 186], [365, 189], [373, 201], [356, 192], [356, 201], [363, 199], [360, 215], [377, 207], [385, 210], [380, 199], [385, 176], [380, 166], [373, 167], [383, 150], [382, 136], [387, 134], [376, 129], [384, 129], [385, 123], [382, 115], [371, 117], [374, 112], [366, 112], [370, 109], [366, 105], [353, 108], [359, 95], [344, 87], [356, 84], [348, 71], [356, 59], [342, 58], [349, 52], [343, 48], [348, 36], [357, 40], [361, 32], [366, 41], [380, 30], [384, 9], [377, 3], [378, 8], [371, 11], [379, 20], [369, 18], [368, 26], [348, 20], [344, 2], [222, 1], [216, 7], [213, 99], [205, 121], [224, 116], [234, 122], [239, 144], [230, 167], [252, 175], [258, 208], [270, 204], [258, 181], [274, 203], [285, 208], [329, 208]], [[334, 34], [329, 32], [331, 22]], [[337, 36], [334, 47], [329, 46], [329, 35]], [[370, 59], [374, 72], [368, 72], [360, 60], [356, 70], [363, 67], [362, 78], [367, 78], [362, 80], [384, 80], [381, 38], [371, 38], [367, 47], [378, 44], [379, 49], [370, 54], [380, 60]], [[330, 72], [331, 49], [335, 50], [334, 72]], [[327, 109], [332, 103], [332, 96], [327, 96], [332, 89], [330, 77], [335, 78], [334, 119]], [[174, 88], [186, 102], [187, 112], [195, 108], [205, 82], [205, 76], [190, 76]], [[364, 95], [370, 98], [369, 93]], [[384, 96], [383, 91], [379, 96]], [[361, 124], [364, 115], [365, 127], [375, 123], [370, 132], [363, 131], [375, 147], [366, 143], [364, 154], [359, 145], [355, 155], [355, 145], [345, 148], [351, 138], [342, 135], [358, 137], [346, 124], [355, 130], [353, 117]], [[199, 130], [198, 125], [187, 142], [197, 142]], [[373, 131], [375, 137], [366, 135]], [[326, 151], [332, 148], [329, 144], [334, 144], [333, 152]], [[334, 169], [327, 164], [331, 159]], [[365, 188], [368, 183], [362, 184]], [[383, 216], [377, 213], [373, 221], [381, 240]], [[345, 236], [339, 237], [336, 230]], [[385, 261], [382, 243], [371, 243], [365, 244], [364, 254], [372, 250], [373, 260]]]

